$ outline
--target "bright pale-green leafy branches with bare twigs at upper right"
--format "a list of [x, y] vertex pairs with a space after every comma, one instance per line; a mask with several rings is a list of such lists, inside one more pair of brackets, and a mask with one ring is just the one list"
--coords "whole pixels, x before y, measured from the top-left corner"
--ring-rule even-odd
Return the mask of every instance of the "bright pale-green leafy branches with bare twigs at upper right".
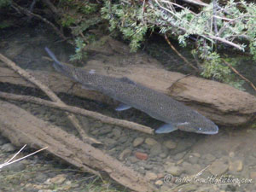
[[210, 3], [203, 6], [199, 13], [195, 13], [182, 4], [178, 5], [177, 11], [177, 3], [166, 0], [143, 3], [129, 0], [104, 2], [102, 17], [109, 21], [110, 31], [119, 30], [124, 38], [131, 41], [132, 51], [139, 48], [148, 29], [158, 28], [160, 33], [177, 38], [184, 47], [193, 35], [197, 38], [194, 55], [202, 62], [201, 75], [238, 88], [242, 81], [236, 81], [230, 68], [224, 65], [218, 49], [229, 45], [229, 49], [248, 50], [256, 60], [254, 3], [230, 0], [226, 5], [218, 4], [218, 9], [214, 11], [213, 3]]

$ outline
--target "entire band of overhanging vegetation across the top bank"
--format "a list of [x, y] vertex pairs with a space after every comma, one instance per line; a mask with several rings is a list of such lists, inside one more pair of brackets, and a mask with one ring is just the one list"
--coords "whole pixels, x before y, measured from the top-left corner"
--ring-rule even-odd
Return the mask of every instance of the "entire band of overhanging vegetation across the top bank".
[[[181, 46], [189, 46], [197, 63], [194, 68], [203, 77], [238, 88], [242, 81], [232, 73], [236, 61], [222, 54], [224, 49], [256, 60], [256, 5], [245, 1], [0, 0], [0, 9], [6, 15], [47, 20], [61, 38], [67, 39], [63, 32], [67, 29], [72, 35], [68, 42], [76, 47], [71, 60], [83, 59], [86, 46], [108, 29], [111, 35], [129, 41], [131, 51], [137, 51], [152, 32], [166, 37], [169, 43], [169, 38], [177, 39]], [[0, 22], [0, 28], [11, 25], [10, 20]]]

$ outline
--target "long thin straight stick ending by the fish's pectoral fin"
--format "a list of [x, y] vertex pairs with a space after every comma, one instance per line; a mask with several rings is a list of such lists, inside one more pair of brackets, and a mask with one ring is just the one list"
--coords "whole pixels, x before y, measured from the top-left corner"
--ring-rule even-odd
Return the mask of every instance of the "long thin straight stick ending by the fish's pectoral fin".
[[19, 102], [32, 102], [32, 103], [36, 103], [39, 105], [47, 106], [49, 108], [61, 109], [61, 110], [67, 111], [67, 112], [81, 114], [83, 116], [91, 117], [93, 119], [98, 119], [98, 120], [102, 121], [103, 123], [107, 123], [107, 124], [111, 124], [111, 125], [118, 125], [118, 126], [121, 126], [124, 128], [141, 131], [141, 132], [148, 133], [148, 134], [154, 134], [154, 130], [145, 125], [139, 125], [137, 123], [127, 121], [127, 120], [114, 119], [112, 117], [105, 116], [101, 113], [88, 111], [83, 108], [61, 105], [60, 103], [57, 103], [57, 102], [49, 102], [49, 101], [46, 101], [44, 99], [40, 99], [40, 98], [37, 98], [34, 96], [19, 96], [19, 95], [15, 95], [15, 94], [11, 94], [11, 93], [4, 93], [4, 92], [0, 91], [0, 97], [3, 99], [14, 100], [14, 101], [19, 101]]

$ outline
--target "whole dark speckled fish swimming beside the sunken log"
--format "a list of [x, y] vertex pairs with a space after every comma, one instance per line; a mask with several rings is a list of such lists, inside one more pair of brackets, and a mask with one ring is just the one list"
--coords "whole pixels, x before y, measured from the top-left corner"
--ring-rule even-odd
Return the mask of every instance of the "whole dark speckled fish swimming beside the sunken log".
[[143, 84], [127, 77], [115, 78], [96, 73], [95, 70], [84, 70], [71, 67], [57, 60], [54, 53], [45, 48], [54, 61], [55, 70], [79, 82], [85, 89], [97, 90], [120, 102], [117, 111], [137, 108], [154, 119], [164, 122], [154, 132], [157, 134], [172, 131], [189, 131], [200, 134], [213, 135], [218, 133], [218, 125], [207, 119], [201, 113], [177, 102], [170, 96], [152, 90]]

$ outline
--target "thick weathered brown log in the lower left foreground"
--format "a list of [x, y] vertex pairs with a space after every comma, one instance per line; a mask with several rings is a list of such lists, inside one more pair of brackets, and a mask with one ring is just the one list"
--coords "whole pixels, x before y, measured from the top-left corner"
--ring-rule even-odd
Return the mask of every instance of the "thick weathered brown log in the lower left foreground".
[[0, 101], [0, 105], [0, 131], [15, 145], [28, 144], [32, 148], [48, 146], [46, 150], [49, 153], [80, 167], [85, 172], [99, 175], [100, 173], [94, 169], [101, 170], [132, 190], [156, 191], [142, 175], [101, 150], [84, 143], [55, 125], [50, 125], [49, 122], [36, 118], [14, 104]]

